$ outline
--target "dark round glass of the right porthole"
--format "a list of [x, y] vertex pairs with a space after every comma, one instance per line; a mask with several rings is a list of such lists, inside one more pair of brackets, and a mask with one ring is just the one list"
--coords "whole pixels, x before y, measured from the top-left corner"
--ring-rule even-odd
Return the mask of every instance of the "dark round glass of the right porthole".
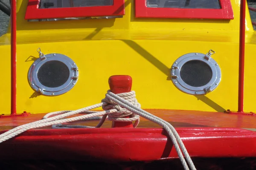
[[212, 69], [205, 62], [191, 60], [181, 67], [180, 78], [188, 85], [201, 87], [212, 79]]

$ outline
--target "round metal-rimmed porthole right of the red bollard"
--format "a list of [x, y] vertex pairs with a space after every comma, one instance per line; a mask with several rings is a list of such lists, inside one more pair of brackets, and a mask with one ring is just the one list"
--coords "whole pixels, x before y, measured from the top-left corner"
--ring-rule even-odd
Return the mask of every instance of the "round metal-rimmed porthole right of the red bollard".
[[207, 94], [221, 81], [221, 69], [212, 58], [215, 51], [207, 54], [189, 53], [179, 57], [172, 65], [174, 85], [187, 94]]

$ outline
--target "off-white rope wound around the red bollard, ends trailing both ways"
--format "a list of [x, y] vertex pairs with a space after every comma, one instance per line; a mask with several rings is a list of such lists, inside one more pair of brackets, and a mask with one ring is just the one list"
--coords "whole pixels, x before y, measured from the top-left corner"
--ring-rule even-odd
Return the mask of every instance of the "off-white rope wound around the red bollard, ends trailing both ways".
[[[91, 109], [99, 108], [99, 107], [102, 107], [104, 111], [99, 111], [99, 112], [89, 111]], [[65, 117], [72, 116], [78, 113], [86, 113], [86, 115], [63, 119]], [[57, 116], [53, 116], [53, 115], [57, 115]], [[53, 116], [53, 117], [49, 117], [49, 116]], [[163, 119], [160, 119], [159, 117], [154, 116], [151, 113], [148, 113], [140, 109], [140, 104], [137, 102], [137, 99], [135, 98], [134, 91], [131, 91], [128, 93], [122, 93], [122, 94], [113, 94], [111, 91], [108, 91], [108, 93], [105, 96], [105, 99], [102, 99], [102, 102], [99, 104], [82, 108], [76, 111], [57, 111], [57, 112], [48, 113], [47, 115], [44, 116], [42, 120], [38, 120], [36, 122], [15, 127], [14, 129], [1, 134], [0, 143], [8, 139], [11, 139], [29, 129], [51, 126], [51, 125], [55, 125], [54, 127], [56, 128], [78, 127], [78, 126], [72, 126], [72, 125], [71, 126], [61, 125], [62, 123], [74, 122], [78, 120], [100, 119], [99, 124], [96, 125], [96, 127], [100, 127], [105, 122], [105, 119], [107, 118], [107, 116], [108, 116], [108, 119], [112, 121], [122, 121], [122, 122], [135, 121], [134, 127], [137, 127], [137, 125], [139, 124], [140, 116], [152, 122], [155, 122], [158, 125], [161, 125], [166, 130], [170, 139], [172, 140], [172, 143], [177, 151], [177, 154], [180, 158], [180, 161], [184, 169], [189, 170], [189, 167], [190, 167], [191, 170], [196, 170], [195, 165], [193, 164], [189, 156], [189, 153], [187, 152], [186, 147], [184, 146], [175, 128], [168, 122], [164, 121]], [[131, 118], [122, 118], [124, 116], [131, 116]], [[82, 127], [85, 127], [85, 126], [82, 126]], [[189, 164], [189, 167], [182, 153], [184, 154], [186, 161]]]

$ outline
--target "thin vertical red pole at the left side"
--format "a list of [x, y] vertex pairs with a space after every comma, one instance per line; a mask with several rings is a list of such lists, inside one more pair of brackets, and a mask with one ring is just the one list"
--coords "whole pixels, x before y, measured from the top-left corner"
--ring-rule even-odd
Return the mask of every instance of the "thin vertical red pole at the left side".
[[11, 114], [16, 111], [16, 0], [11, 0]]

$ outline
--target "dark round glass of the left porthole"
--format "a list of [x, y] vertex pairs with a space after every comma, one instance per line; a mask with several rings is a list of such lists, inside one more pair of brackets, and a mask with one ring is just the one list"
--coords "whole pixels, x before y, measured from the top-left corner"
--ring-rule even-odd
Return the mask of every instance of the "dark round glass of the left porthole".
[[39, 82], [49, 88], [56, 88], [67, 82], [70, 71], [63, 62], [48, 61], [39, 68], [37, 77]]

